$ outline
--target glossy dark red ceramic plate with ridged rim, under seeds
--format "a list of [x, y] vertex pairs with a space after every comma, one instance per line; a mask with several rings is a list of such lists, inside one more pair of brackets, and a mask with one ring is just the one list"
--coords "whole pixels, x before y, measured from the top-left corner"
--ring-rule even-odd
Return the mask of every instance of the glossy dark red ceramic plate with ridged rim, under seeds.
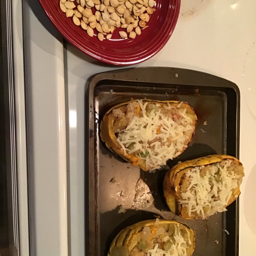
[[[156, 0], [156, 11], [151, 15], [148, 28], [135, 39], [122, 39], [119, 30], [113, 32], [111, 40], [93, 38], [76, 26], [71, 17], [59, 7], [59, 0], [39, 0], [53, 25], [71, 44], [87, 55], [105, 63], [132, 65], [145, 61], [160, 51], [167, 43], [177, 23], [180, 0]], [[76, 1], [73, 3], [76, 4]], [[124, 29], [122, 29], [124, 30]], [[96, 35], [96, 30], [94, 31]]]

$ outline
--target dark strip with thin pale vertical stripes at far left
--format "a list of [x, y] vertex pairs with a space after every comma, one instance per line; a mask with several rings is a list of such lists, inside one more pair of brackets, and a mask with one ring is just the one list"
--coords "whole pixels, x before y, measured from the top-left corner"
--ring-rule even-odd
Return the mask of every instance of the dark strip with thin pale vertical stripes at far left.
[[12, 255], [20, 255], [18, 195], [17, 195], [17, 148], [15, 119], [15, 82], [12, 38], [12, 0], [1, 1], [3, 42], [3, 84], [5, 91], [6, 154], [9, 215], [9, 248]]

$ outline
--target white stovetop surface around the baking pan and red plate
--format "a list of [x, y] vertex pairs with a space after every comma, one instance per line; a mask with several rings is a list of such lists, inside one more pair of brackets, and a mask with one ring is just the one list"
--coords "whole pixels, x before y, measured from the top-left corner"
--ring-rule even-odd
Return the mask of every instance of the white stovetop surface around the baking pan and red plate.
[[[239, 252], [256, 255], [256, 1], [182, 0], [180, 17], [166, 46], [153, 58], [132, 67], [166, 66], [199, 70], [233, 81], [241, 92], [241, 185]], [[52, 35], [48, 32], [48, 36]], [[33, 39], [37, 40], [37, 39]], [[45, 47], [37, 44], [39, 48]], [[50, 47], [48, 47], [50, 49]], [[58, 54], [49, 52], [52, 61]], [[84, 255], [84, 106], [90, 78], [119, 67], [100, 63], [67, 44], [66, 70], [70, 255]], [[60, 72], [60, 76], [63, 76]], [[61, 196], [61, 195], [60, 195]], [[41, 241], [40, 241], [41, 242]], [[43, 254], [42, 254], [43, 255]]]

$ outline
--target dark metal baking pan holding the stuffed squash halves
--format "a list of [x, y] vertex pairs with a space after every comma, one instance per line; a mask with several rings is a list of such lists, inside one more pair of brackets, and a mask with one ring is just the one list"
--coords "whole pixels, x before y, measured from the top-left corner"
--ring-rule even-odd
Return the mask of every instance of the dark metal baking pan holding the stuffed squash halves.
[[[184, 220], [168, 209], [163, 197], [166, 171], [144, 172], [114, 156], [99, 138], [99, 123], [109, 108], [132, 99], [186, 101], [198, 116], [195, 137], [174, 160], [190, 160], [209, 154], [239, 157], [240, 94], [236, 84], [193, 70], [143, 67], [114, 70], [93, 77], [89, 86], [88, 191], [86, 230], [89, 255], [105, 256], [112, 239], [138, 221], [173, 219], [195, 231], [194, 256], [237, 256], [239, 202], [208, 220]], [[207, 121], [207, 125], [204, 125]], [[110, 182], [114, 177], [115, 183]], [[117, 213], [120, 206], [127, 209]], [[227, 230], [229, 235], [224, 231]]]

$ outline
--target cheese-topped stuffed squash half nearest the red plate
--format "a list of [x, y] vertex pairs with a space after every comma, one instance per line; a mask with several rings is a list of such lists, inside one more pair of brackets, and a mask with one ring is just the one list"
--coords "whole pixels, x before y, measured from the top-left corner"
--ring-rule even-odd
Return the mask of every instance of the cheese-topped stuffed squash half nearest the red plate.
[[144, 171], [153, 171], [187, 148], [196, 121], [186, 102], [132, 100], [105, 113], [100, 137], [114, 154]]

